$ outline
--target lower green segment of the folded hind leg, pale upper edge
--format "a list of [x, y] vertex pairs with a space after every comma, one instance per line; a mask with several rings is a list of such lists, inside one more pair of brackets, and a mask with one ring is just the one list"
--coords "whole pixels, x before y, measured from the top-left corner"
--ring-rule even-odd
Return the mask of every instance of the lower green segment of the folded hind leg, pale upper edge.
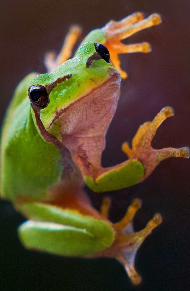
[[19, 227], [19, 236], [26, 248], [56, 255], [80, 256], [101, 250], [86, 229], [58, 223], [29, 220]]

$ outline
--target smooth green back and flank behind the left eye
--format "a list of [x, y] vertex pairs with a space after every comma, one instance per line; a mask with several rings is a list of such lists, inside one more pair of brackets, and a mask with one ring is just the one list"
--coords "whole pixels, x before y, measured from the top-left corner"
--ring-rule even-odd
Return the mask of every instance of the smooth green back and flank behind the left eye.
[[12, 201], [17, 196], [43, 198], [62, 174], [59, 150], [42, 139], [33, 123], [26, 84], [34, 76], [16, 88], [2, 128], [0, 194]]

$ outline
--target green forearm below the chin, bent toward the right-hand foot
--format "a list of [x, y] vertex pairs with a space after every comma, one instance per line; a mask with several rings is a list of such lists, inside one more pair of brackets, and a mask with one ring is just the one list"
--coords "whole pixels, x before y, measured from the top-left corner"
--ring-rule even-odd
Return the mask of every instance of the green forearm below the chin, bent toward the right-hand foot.
[[144, 167], [138, 160], [126, 162], [106, 168], [96, 179], [85, 175], [83, 177], [87, 186], [94, 192], [105, 192], [123, 189], [141, 181], [144, 175]]

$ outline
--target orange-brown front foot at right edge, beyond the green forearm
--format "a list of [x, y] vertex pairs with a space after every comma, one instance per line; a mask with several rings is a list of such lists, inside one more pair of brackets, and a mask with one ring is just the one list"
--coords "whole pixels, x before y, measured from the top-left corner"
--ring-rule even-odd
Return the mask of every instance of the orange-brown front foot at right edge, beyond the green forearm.
[[155, 150], [151, 146], [153, 137], [156, 134], [159, 125], [168, 117], [173, 116], [171, 107], [164, 107], [152, 122], [145, 122], [141, 125], [132, 140], [132, 148], [128, 143], [122, 144], [122, 150], [130, 159], [138, 159], [144, 166], [144, 180], [154, 168], [164, 159], [169, 157], [189, 158], [189, 148], [163, 148]]

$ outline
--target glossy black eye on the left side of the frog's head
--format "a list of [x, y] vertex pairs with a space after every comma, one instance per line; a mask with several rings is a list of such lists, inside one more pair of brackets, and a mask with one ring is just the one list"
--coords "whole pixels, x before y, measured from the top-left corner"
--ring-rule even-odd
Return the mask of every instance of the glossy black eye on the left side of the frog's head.
[[33, 85], [28, 89], [30, 101], [39, 108], [45, 108], [49, 103], [49, 96], [46, 88], [41, 85]]

